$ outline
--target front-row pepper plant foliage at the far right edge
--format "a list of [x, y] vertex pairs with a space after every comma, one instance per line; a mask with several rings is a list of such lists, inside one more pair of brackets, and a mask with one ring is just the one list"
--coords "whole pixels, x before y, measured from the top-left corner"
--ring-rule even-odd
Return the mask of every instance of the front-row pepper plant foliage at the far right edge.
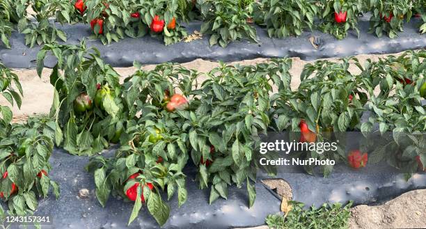
[[[368, 106], [373, 116], [362, 124], [361, 131], [367, 136], [374, 134], [373, 125], [379, 123], [379, 134], [386, 140], [375, 143], [370, 163], [387, 158], [390, 165], [406, 173], [416, 172], [416, 157], [425, 164], [426, 113], [424, 97], [420, 95], [420, 88], [426, 83], [425, 57], [424, 50], [407, 52], [371, 63], [366, 69], [365, 74], [372, 76], [381, 93], [370, 93]], [[392, 155], [388, 155], [390, 152]]]

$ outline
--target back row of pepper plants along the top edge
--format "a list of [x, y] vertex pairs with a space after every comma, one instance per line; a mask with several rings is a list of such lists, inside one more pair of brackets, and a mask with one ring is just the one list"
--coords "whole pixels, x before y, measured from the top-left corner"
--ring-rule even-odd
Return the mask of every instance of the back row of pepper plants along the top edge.
[[[32, 8], [28, 13], [27, 8]], [[93, 35], [104, 44], [128, 36], [150, 34], [166, 45], [187, 36], [182, 23], [201, 20], [200, 31], [210, 35], [210, 45], [226, 47], [234, 40], [256, 42], [253, 24], [267, 29], [270, 37], [301, 35], [306, 29], [320, 29], [338, 39], [350, 29], [358, 30], [358, 18], [371, 13], [370, 33], [395, 38], [404, 22], [420, 17], [420, 33], [426, 31], [426, 3], [421, 0], [4, 0], [0, 3], [0, 37], [10, 47], [13, 30], [25, 34], [26, 45], [66, 41], [60, 24], [90, 24]], [[52, 22], [51, 17], [54, 17]]]

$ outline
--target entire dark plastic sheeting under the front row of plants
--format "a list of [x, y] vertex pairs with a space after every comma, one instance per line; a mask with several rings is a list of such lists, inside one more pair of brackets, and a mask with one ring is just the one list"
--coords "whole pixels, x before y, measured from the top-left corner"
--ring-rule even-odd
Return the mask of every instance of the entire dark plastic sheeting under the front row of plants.
[[[113, 150], [105, 153], [112, 154]], [[103, 208], [95, 196], [93, 175], [85, 171], [87, 157], [76, 157], [55, 149], [50, 162], [53, 169], [49, 176], [60, 185], [61, 196], [55, 200], [50, 194], [40, 200], [36, 215], [49, 215], [53, 221], [52, 225], [42, 228], [159, 228], [146, 207], [142, 207], [139, 217], [129, 227], [127, 222], [133, 203], [110, 197]], [[259, 182], [255, 185], [255, 205], [249, 209], [245, 185], [242, 189], [230, 187], [228, 200], [219, 199], [209, 205], [210, 190], [198, 189], [198, 182], [194, 181], [196, 168], [187, 166], [184, 171], [188, 176], [187, 203], [179, 208], [176, 195], [168, 201], [171, 214], [163, 228], [226, 229], [262, 225], [268, 214], [280, 211], [281, 204], [274, 191], [262, 185], [262, 179], [283, 178], [290, 183], [294, 200], [316, 206], [348, 200], [354, 200], [355, 205], [374, 203], [411, 189], [426, 187], [426, 174], [413, 175], [406, 182], [403, 175], [388, 171], [388, 166], [384, 165], [366, 167], [362, 173], [337, 166], [328, 178], [307, 175], [299, 169], [280, 167], [276, 177], [260, 173]], [[90, 191], [88, 198], [78, 197], [80, 189]]]

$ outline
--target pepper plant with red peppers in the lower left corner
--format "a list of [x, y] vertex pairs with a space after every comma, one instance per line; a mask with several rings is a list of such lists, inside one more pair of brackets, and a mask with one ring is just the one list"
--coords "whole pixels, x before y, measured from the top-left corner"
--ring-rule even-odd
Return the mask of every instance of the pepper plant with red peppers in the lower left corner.
[[59, 186], [49, 178], [55, 123], [31, 118], [26, 124], [13, 124], [0, 139], [0, 197], [8, 203], [8, 214], [33, 214], [38, 199], [52, 187], [56, 198]]

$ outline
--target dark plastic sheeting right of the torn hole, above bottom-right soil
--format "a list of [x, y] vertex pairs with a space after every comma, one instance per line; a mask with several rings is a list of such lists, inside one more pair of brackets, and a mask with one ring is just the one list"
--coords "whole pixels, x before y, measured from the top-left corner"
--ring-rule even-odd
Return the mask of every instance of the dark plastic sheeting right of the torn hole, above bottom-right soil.
[[[262, 173], [260, 180], [269, 179]], [[354, 205], [374, 205], [390, 198], [400, 196], [407, 191], [426, 189], [426, 173], [413, 174], [409, 180], [400, 171], [382, 162], [354, 171], [345, 164], [338, 164], [328, 177], [322, 174], [307, 175], [303, 168], [281, 166], [274, 178], [280, 178], [290, 184], [293, 200], [319, 207], [324, 203], [348, 203]]]

